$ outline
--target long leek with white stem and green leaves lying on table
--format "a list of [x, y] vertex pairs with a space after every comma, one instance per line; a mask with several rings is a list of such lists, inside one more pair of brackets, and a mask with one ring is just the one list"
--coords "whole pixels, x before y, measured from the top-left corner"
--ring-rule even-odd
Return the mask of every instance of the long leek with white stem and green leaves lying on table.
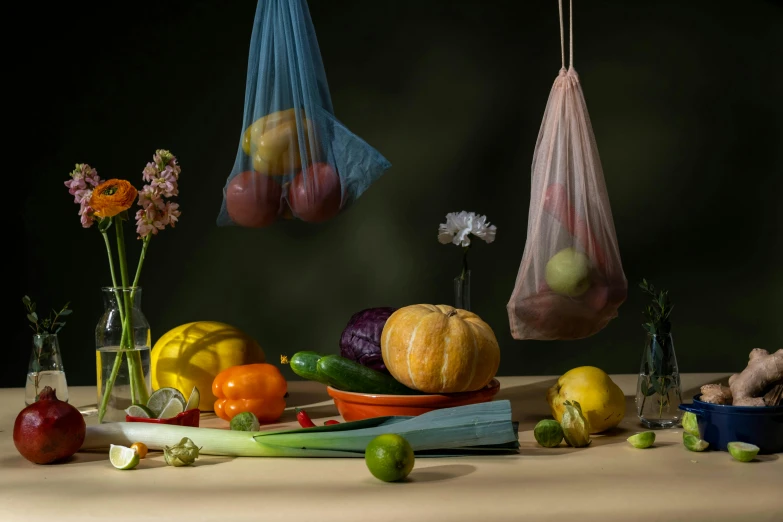
[[516, 453], [518, 424], [511, 420], [511, 403], [493, 401], [445, 408], [417, 417], [376, 417], [330, 426], [283, 431], [242, 432], [143, 422], [89, 426], [82, 450], [110, 444], [144, 442], [161, 450], [183, 437], [192, 439], [202, 455], [232, 457], [363, 457], [378, 435], [405, 437], [418, 456]]

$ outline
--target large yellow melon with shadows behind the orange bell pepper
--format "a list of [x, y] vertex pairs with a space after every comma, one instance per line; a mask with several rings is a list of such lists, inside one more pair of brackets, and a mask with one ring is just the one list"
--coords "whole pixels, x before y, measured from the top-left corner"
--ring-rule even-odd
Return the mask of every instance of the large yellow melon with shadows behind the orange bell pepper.
[[240, 329], [217, 321], [183, 324], [163, 334], [152, 348], [152, 388], [176, 388], [188, 396], [199, 389], [199, 409], [212, 411], [212, 381], [223, 370], [266, 362], [258, 343]]

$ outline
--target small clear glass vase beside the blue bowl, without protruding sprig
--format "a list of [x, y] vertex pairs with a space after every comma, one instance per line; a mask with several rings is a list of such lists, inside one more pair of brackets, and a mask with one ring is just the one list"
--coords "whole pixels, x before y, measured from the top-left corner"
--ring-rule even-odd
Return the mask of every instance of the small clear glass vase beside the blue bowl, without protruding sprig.
[[676, 428], [682, 387], [671, 334], [647, 335], [636, 385], [636, 411], [649, 429]]

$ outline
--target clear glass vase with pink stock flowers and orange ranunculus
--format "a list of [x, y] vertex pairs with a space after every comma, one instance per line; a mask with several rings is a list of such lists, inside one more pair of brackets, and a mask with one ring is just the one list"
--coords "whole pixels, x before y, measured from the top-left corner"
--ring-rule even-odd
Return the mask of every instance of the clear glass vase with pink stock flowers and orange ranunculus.
[[[95, 331], [98, 385], [98, 419], [110, 422], [125, 419], [131, 404], [146, 405], [150, 387], [150, 326], [141, 311], [139, 279], [151, 239], [177, 223], [179, 204], [170, 198], [179, 195], [180, 166], [171, 152], [159, 149], [142, 172], [141, 191], [122, 179], [101, 180], [98, 171], [80, 163], [65, 182], [84, 228], [97, 225], [109, 261], [111, 286], [103, 287], [104, 314]], [[124, 222], [128, 210], [137, 203], [136, 234], [141, 252], [131, 280], [128, 270]], [[115, 270], [110, 230], [114, 229], [119, 278]]]

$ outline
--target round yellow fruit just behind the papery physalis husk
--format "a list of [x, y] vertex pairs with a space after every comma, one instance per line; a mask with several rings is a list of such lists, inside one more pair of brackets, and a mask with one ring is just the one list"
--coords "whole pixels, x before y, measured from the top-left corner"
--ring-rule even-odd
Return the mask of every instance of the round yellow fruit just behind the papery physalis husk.
[[546, 394], [552, 416], [561, 422], [565, 401], [576, 401], [590, 424], [590, 433], [614, 428], [625, 416], [625, 395], [606, 372], [580, 366], [564, 373]]

